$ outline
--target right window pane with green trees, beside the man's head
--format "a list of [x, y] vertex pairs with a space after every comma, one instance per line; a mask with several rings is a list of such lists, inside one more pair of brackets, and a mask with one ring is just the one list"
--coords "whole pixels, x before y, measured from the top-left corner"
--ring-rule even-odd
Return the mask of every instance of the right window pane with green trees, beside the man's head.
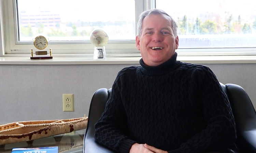
[[179, 24], [180, 48], [256, 47], [256, 1], [156, 0]]

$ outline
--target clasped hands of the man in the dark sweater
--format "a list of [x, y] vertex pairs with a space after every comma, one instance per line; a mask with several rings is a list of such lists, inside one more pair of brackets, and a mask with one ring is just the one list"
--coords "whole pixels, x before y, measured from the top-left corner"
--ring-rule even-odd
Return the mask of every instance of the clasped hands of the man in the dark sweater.
[[168, 152], [149, 146], [147, 144], [134, 143], [131, 146], [130, 153], [168, 153]]

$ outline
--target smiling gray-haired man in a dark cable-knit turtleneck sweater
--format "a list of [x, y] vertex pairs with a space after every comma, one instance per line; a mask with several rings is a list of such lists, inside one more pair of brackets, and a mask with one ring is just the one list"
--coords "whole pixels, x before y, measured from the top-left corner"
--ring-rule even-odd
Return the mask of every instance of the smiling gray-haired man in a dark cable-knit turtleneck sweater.
[[118, 73], [95, 140], [117, 153], [238, 153], [233, 114], [214, 73], [176, 61], [172, 17], [143, 12], [136, 46], [141, 66]]

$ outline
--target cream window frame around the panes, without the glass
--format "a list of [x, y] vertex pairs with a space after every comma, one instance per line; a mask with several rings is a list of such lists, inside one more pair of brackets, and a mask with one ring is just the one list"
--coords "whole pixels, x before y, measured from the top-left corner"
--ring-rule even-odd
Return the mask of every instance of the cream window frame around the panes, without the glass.
[[[17, 37], [17, 11], [16, 0], [0, 0], [0, 56], [30, 56], [31, 42], [18, 42]], [[137, 23], [141, 12], [155, 8], [156, 0], [134, 0], [135, 1], [135, 24], [137, 34]], [[2, 5], [3, 4], [3, 5]], [[2, 24], [3, 23], [3, 24]], [[135, 39], [135, 36], [134, 36]], [[90, 41], [50, 41], [56, 57], [91, 57], [93, 56], [94, 46]], [[132, 57], [141, 56], [137, 50], [135, 40], [110, 40], [105, 46], [106, 55], [111, 57]], [[202, 55], [256, 55], [256, 47], [250, 48], [180, 48], [176, 50], [181, 56], [202, 56]]]

